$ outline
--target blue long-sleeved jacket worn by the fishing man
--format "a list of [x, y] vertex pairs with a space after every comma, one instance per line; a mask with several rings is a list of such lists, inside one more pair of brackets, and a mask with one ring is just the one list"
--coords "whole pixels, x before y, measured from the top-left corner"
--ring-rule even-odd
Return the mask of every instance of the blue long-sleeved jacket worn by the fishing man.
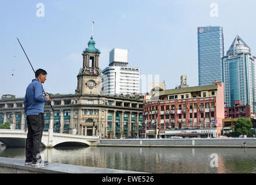
[[47, 98], [43, 97], [43, 86], [38, 79], [32, 80], [28, 85], [25, 98], [24, 98], [24, 110], [26, 115], [38, 115], [43, 113], [43, 102], [46, 102]]

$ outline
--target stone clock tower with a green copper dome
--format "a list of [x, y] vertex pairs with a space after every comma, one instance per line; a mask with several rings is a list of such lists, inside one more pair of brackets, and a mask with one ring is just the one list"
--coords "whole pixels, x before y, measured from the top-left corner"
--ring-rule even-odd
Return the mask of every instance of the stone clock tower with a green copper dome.
[[93, 36], [91, 36], [88, 47], [83, 51], [83, 68], [78, 74], [78, 86], [76, 94], [101, 94], [102, 75], [98, 68], [98, 57], [100, 50], [96, 49]]

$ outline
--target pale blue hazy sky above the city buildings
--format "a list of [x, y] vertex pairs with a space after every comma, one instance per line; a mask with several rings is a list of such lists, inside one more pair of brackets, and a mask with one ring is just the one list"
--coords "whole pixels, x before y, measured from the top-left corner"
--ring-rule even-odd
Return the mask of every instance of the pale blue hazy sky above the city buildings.
[[141, 83], [159, 77], [170, 89], [186, 75], [190, 87], [198, 86], [197, 28], [223, 27], [225, 54], [238, 34], [255, 56], [255, 7], [255, 0], [1, 0], [0, 96], [24, 97], [34, 79], [16, 38], [35, 70], [47, 71], [46, 92], [74, 93], [92, 19], [101, 70], [109, 51], [127, 49], [129, 66], [147, 77]]

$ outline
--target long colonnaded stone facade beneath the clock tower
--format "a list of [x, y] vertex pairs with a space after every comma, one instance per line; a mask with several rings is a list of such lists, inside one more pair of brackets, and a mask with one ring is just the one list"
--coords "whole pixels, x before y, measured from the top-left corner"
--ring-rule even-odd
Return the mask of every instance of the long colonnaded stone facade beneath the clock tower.
[[[13, 128], [26, 127], [23, 100], [23, 98], [0, 99], [1, 123], [10, 120], [14, 115]], [[142, 100], [89, 94], [58, 95], [52, 96], [51, 100], [54, 108], [54, 132], [68, 134], [76, 132], [75, 134], [93, 136], [101, 134], [101, 137], [105, 138], [111, 130], [112, 138], [139, 136], [138, 129], [142, 123]], [[22, 106], [17, 107], [17, 105]], [[50, 105], [45, 102], [44, 131], [49, 128], [50, 111], [52, 111]], [[131, 119], [132, 116], [133, 119]], [[131, 128], [132, 121], [133, 128]], [[127, 127], [124, 127], [124, 124], [127, 124]]]

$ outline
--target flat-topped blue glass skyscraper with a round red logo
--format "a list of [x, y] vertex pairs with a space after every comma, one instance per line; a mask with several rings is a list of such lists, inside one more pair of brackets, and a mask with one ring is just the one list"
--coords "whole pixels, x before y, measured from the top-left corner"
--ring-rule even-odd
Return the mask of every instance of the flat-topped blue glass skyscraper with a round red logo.
[[222, 82], [224, 39], [222, 27], [198, 27], [199, 86]]

